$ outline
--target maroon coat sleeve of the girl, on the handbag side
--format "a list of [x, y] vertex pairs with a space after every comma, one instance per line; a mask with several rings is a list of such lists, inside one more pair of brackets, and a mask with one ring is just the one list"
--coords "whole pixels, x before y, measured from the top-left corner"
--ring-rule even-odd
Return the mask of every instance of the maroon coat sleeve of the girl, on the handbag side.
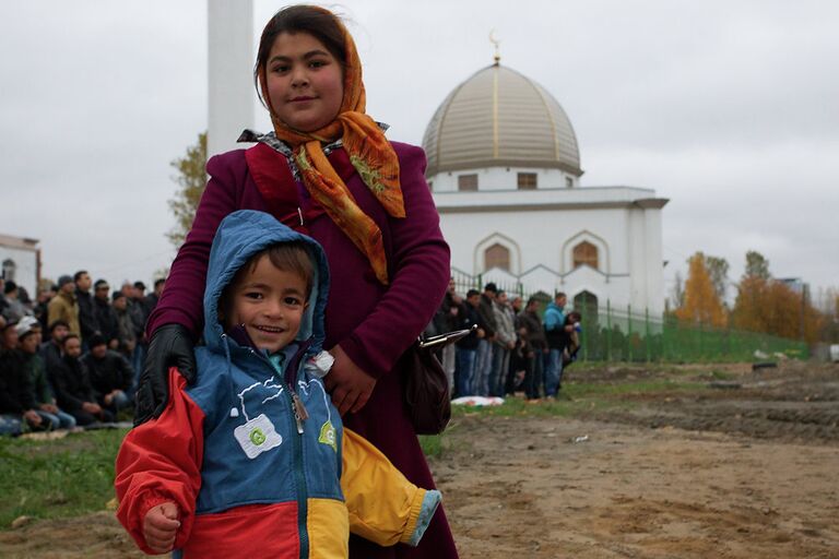
[[449, 285], [449, 246], [425, 181], [425, 153], [405, 144], [399, 144], [399, 153], [405, 218], [389, 219], [392, 281], [367, 319], [339, 342], [374, 377], [393, 368], [432, 321]]

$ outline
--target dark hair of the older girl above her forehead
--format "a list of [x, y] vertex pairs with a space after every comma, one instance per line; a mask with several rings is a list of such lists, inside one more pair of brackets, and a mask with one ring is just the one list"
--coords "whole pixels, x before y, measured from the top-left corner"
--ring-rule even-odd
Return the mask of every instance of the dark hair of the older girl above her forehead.
[[271, 47], [281, 33], [308, 33], [321, 41], [327, 50], [335, 57], [341, 67], [346, 66], [346, 49], [344, 48], [344, 32], [339, 19], [332, 12], [314, 5], [289, 5], [274, 14], [262, 29], [257, 50], [257, 64], [253, 67], [253, 83], [259, 90], [259, 70], [268, 63]]

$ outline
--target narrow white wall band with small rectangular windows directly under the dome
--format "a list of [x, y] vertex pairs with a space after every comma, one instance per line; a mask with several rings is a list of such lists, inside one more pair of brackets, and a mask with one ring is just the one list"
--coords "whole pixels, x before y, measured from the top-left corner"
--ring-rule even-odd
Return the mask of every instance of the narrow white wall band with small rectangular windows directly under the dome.
[[[486, 167], [438, 173], [428, 179], [435, 192], [457, 192], [458, 177], [477, 175], [477, 190], [498, 191], [518, 190], [518, 174], [535, 173], [536, 189], [574, 188], [579, 186], [579, 178], [559, 169], [535, 169], [528, 167]], [[569, 185], [570, 181], [570, 185]]]

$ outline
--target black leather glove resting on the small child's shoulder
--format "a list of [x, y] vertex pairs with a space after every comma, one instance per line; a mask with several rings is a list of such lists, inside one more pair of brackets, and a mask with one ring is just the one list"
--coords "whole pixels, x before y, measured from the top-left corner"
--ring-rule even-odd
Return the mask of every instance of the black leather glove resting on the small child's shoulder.
[[196, 380], [192, 334], [180, 324], [165, 324], [152, 334], [134, 396], [134, 427], [159, 417], [169, 402], [169, 367], [177, 367], [188, 383]]

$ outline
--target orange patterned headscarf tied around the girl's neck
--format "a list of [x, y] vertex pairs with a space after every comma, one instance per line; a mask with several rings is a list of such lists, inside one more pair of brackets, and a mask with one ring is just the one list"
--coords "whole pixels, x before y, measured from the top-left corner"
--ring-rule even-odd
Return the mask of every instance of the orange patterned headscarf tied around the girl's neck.
[[[322, 8], [312, 8], [331, 14]], [[405, 216], [402, 189], [399, 185], [397, 153], [378, 124], [365, 114], [366, 96], [362, 81], [362, 62], [350, 32], [338, 17], [335, 21], [344, 35], [346, 66], [344, 97], [339, 114], [332, 122], [312, 132], [289, 128], [277, 118], [271, 106], [264, 66], [259, 69], [259, 84], [262, 98], [271, 112], [274, 132], [280, 140], [292, 146], [303, 181], [311, 198], [367, 257], [376, 277], [387, 285], [388, 265], [381, 229], [358, 207], [350, 189], [335, 173], [321, 148], [322, 143], [341, 138], [353, 167], [388, 214], [393, 217]]]

